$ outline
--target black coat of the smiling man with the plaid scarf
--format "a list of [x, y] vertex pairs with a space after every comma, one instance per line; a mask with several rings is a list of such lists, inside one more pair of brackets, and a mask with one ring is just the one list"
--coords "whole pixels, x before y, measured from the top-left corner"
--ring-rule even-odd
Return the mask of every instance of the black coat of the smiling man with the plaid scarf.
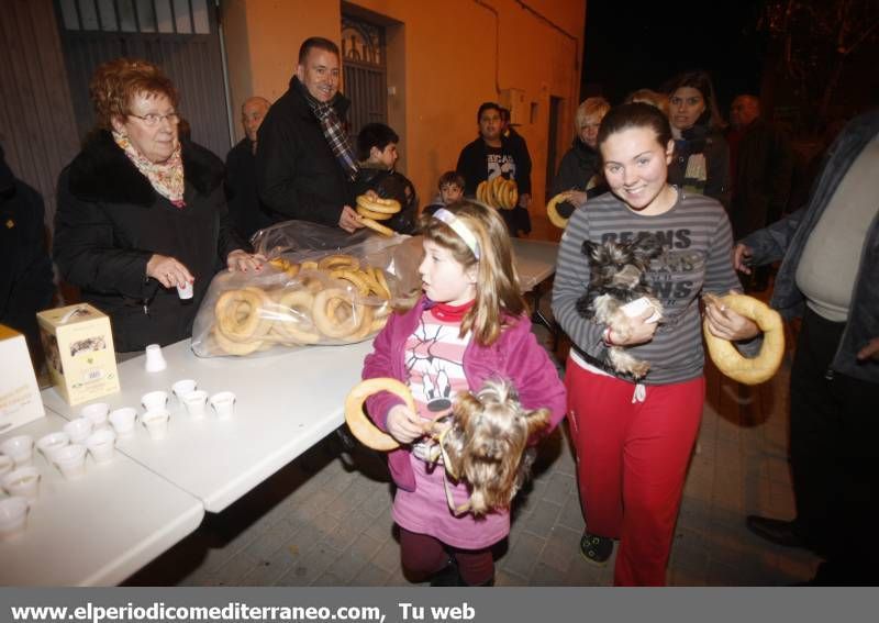
[[[257, 133], [256, 185], [272, 222], [297, 219], [337, 226], [344, 205], [354, 207], [346, 171], [326, 143], [318, 118], [293, 76], [271, 104]], [[344, 119], [348, 100], [333, 107]]]

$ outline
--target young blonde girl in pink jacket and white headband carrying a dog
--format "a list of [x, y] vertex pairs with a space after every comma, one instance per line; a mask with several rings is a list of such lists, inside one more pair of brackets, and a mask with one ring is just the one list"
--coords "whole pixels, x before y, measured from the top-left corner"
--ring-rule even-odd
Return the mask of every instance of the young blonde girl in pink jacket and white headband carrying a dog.
[[[404, 444], [388, 455], [388, 464], [397, 483], [393, 520], [407, 576], [432, 578], [434, 586], [490, 586], [491, 546], [510, 533], [510, 514], [452, 513], [442, 465], [425, 461], [425, 423], [448, 413], [459, 391], [476, 392], [487, 379], [501, 378], [512, 381], [525, 409], [550, 410], [552, 430], [565, 414], [565, 387], [531, 332], [510, 236], [498, 212], [464, 201], [423, 215], [421, 231], [423, 296], [411, 310], [391, 316], [363, 374], [405, 382], [418, 412], [388, 392], [368, 399], [367, 410]], [[453, 497], [456, 504], [465, 503], [466, 485], [455, 485]]]

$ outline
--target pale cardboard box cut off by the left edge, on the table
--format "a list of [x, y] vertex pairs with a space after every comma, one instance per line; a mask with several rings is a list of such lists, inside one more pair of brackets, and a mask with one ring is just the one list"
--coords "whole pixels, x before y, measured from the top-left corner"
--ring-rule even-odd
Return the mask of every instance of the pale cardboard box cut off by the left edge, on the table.
[[24, 335], [0, 324], [0, 433], [45, 416]]

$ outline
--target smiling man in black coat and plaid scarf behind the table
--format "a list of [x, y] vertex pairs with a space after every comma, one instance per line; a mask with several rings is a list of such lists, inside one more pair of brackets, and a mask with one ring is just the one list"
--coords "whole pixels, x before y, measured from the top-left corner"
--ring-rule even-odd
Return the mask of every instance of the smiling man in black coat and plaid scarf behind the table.
[[290, 88], [259, 127], [257, 188], [274, 222], [363, 227], [352, 208], [357, 162], [345, 121], [351, 102], [338, 92], [338, 46], [305, 40]]

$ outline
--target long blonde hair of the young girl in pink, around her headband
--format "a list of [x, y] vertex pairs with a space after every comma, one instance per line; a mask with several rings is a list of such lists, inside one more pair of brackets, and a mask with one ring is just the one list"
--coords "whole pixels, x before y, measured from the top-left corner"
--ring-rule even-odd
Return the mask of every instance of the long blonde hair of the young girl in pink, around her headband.
[[503, 219], [492, 208], [460, 201], [446, 210], [476, 237], [478, 259], [467, 243], [439, 219], [422, 214], [420, 232], [425, 240], [452, 252], [452, 257], [465, 269], [478, 265], [476, 301], [460, 323], [460, 336], [472, 331], [477, 344], [490, 346], [500, 337], [505, 325], [504, 316], [518, 320], [527, 312], [513, 265], [510, 234]]

